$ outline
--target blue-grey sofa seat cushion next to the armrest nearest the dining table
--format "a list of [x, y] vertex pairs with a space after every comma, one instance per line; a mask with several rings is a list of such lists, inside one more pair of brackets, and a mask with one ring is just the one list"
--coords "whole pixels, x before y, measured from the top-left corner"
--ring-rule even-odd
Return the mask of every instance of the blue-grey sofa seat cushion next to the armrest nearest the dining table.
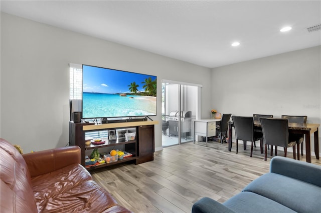
[[[276, 173], [266, 173], [249, 183], [250, 191], [297, 212], [320, 212], [321, 187]], [[271, 211], [272, 212], [272, 211]]]

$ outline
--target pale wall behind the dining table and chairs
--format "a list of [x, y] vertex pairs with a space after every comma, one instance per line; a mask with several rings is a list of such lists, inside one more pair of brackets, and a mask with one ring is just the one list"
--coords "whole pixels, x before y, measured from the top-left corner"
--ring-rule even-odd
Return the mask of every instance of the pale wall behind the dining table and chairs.
[[321, 123], [320, 52], [316, 46], [213, 68], [213, 107], [239, 116], [307, 115], [307, 122]]

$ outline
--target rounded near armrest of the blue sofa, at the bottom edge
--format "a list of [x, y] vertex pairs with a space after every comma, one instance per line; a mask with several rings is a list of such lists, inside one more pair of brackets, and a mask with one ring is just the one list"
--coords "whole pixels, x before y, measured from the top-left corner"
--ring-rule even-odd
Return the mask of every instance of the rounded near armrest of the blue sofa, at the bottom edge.
[[193, 204], [192, 213], [235, 213], [232, 209], [226, 207], [222, 203], [211, 199], [209, 197], [203, 197]]

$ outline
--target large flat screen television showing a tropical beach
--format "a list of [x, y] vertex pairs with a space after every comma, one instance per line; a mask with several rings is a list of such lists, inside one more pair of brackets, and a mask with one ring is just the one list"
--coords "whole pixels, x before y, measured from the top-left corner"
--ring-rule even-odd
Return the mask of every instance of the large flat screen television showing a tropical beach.
[[82, 118], [156, 115], [156, 76], [82, 65]]

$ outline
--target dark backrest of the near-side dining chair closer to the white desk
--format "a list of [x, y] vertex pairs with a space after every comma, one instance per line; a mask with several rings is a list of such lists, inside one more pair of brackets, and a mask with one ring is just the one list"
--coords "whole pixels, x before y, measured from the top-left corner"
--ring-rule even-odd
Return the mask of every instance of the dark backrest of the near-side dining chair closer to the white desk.
[[253, 117], [232, 116], [232, 120], [236, 139], [252, 141], [254, 135]]

